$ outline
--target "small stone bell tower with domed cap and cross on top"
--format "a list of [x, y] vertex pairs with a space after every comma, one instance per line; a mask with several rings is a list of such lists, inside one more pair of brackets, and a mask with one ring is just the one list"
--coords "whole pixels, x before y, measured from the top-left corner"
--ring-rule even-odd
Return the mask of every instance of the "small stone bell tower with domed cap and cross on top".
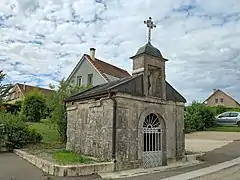
[[166, 99], [165, 62], [161, 52], [151, 44], [151, 30], [156, 27], [152, 18], [144, 21], [148, 27], [148, 42], [141, 47], [133, 60], [132, 75], [143, 75], [145, 96]]

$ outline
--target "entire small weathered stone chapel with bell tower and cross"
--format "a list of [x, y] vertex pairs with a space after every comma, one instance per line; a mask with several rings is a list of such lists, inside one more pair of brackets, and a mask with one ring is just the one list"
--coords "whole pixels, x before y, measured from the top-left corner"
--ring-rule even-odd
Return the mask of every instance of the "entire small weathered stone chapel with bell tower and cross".
[[113, 161], [116, 170], [164, 166], [185, 154], [185, 98], [167, 81], [168, 61], [149, 40], [131, 57], [132, 76], [65, 100], [66, 149]]

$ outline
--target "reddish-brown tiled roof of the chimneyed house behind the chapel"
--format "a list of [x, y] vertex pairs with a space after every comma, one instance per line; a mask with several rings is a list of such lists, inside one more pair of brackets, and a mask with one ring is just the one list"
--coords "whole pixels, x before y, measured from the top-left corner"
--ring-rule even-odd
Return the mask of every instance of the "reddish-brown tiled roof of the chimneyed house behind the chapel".
[[94, 60], [88, 55], [84, 54], [88, 60], [95, 66], [95, 68], [106, 78], [108, 81], [108, 77], [105, 74], [108, 74], [110, 76], [118, 77], [118, 78], [124, 78], [124, 77], [130, 77], [131, 75], [126, 71], [119, 67], [116, 67], [112, 64], [106, 63], [100, 59], [95, 58]]

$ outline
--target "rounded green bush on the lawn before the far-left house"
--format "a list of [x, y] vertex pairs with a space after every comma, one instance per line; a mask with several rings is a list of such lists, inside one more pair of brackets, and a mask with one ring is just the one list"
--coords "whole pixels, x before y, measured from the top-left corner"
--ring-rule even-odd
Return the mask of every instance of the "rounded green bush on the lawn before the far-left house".
[[39, 122], [45, 117], [46, 110], [46, 99], [37, 89], [29, 92], [22, 102], [22, 115], [28, 122]]

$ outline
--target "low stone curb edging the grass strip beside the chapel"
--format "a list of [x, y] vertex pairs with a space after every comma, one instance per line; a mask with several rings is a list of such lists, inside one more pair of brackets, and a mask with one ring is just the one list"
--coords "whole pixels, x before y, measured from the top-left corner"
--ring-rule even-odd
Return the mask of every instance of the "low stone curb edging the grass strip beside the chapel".
[[19, 149], [15, 149], [14, 153], [40, 168], [43, 172], [53, 176], [83, 176], [104, 172], [113, 172], [114, 170], [113, 162], [59, 165]]

